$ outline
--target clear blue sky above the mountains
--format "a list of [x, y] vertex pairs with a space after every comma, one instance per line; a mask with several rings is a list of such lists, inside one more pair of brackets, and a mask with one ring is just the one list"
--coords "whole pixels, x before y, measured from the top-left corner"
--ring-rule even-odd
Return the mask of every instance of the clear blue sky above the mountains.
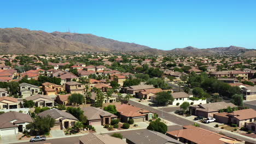
[[0, 27], [91, 33], [156, 49], [256, 49], [256, 1], [1, 1]]

